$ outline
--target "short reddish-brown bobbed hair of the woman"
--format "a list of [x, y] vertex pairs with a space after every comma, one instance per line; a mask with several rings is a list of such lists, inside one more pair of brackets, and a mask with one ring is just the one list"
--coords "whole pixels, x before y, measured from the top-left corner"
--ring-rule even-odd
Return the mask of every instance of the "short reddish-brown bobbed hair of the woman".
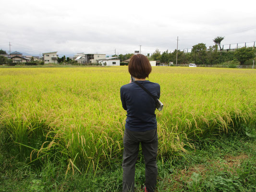
[[128, 65], [129, 73], [137, 79], [145, 79], [152, 71], [149, 60], [142, 54], [134, 55]]

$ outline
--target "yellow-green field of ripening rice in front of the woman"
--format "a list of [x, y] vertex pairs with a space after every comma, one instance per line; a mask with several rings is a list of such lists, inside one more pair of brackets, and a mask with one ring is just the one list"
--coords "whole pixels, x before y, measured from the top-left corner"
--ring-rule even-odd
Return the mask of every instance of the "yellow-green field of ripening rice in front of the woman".
[[[120, 87], [128, 68], [0, 68], [0, 133], [28, 163], [65, 160], [87, 171], [122, 159], [126, 111]], [[256, 125], [256, 71], [153, 67], [161, 86], [158, 158], [194, 147], [213, 134]]]

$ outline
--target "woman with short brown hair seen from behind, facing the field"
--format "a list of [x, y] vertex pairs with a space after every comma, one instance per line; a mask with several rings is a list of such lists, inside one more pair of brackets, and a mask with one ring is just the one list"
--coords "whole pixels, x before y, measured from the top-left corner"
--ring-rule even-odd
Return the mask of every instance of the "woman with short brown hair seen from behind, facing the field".
[[123, 135], [123, 192], [134, 192], [135, 163], [138, 157], [139, 144], [142, 146], [146, 165], [146, 192], [154, 192], [158, 167], [158, 133], [155, 115], [156, 103], [138, 84], [143, 85], [153, 96], [160, 97], [160, 85], [146, 80], [152, 71], [146, 56], [134, 55], [128, 65], [135, 83], [121, 87], [122, 108], [127, 111], [125, 130]]

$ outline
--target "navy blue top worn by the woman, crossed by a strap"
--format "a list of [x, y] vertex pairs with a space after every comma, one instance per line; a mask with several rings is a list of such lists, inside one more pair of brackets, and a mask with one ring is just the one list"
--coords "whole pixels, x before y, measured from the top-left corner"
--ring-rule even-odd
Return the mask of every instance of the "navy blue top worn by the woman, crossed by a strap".
[[[160, 97], [160, 85], [150, 81], [137, 81], [153, 96]], [[125, 129], [144, 132], [157, 128], [156, 103], [139, 85], [125, 84], [120, 89], [122, 108], [127, 111]]]

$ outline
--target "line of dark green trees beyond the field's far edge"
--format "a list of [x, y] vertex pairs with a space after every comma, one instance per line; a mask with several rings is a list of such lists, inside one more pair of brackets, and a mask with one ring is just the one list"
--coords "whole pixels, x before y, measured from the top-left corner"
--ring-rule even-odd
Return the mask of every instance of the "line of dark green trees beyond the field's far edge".
[[[204, 43], [198, 43], [192, 47], [191, 53], [178, 50], [177, 63], [189, 64], [195, 63], [197, 65], [214, 65], [214, 64], [240, 64], [244, 65], [246, 61], [254, 59], [256, 54], [255, 48], [238, 48], [235, 51], [224, 52], [221, 48], [221, 41], [224, 39], [222, 36], [217, 36], [213, 39], [214, 45], [209, 48]], [[133, 54], [125, 55], [112, 55], [112, 57], [118, 56], [121, 61], [127, 60], [132, 57]], [[149, 57], [149, 60], [157, 60], [161, 63], [173, 64], [176, 63], [177, 50], [173, 52], [166, 50], [160, 52], [158, 49]], [[248, 64], [248, 63], [247, 63]], [[248, 65], [251, 65], [249, 63]]]

